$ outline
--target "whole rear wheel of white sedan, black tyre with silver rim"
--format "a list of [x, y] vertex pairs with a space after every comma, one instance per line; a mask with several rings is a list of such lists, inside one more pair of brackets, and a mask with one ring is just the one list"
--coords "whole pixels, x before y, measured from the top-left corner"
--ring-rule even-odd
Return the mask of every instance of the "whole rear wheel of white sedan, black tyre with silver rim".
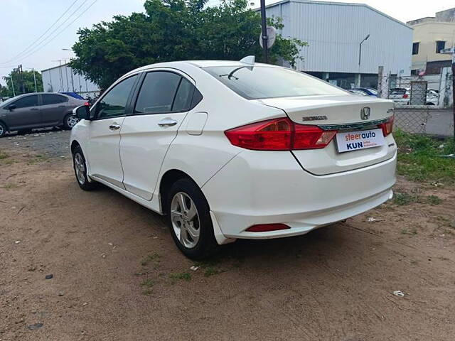
[[190, 259], [203, 259], [217, 248], [207, 200], [196, 183], [177, 180], [168, 191], [166, 213], [173, 241]]

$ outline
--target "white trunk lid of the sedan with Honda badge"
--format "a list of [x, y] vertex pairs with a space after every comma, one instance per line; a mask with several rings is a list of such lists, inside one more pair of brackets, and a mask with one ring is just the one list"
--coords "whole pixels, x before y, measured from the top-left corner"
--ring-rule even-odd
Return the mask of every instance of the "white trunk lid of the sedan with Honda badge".
[[[374, 131], [382, 136], [378, 124], [392, 116], [393, 102], [386, 99], [372, 99], [355, 95], [330, 95], [311, 97], [284, 97], [257, 99], [257, 102], [276, 107], [286, 112], [296, 124], [316, 125], [324, 130], [360, 134]], [[364, 109], [369, 108], [369, 109]], [[363, 112], [363, 114], [361, 113]], [[381, 136], [378, 138], [382, 139]], [[341, 145], [343, 141], [340, 141]], [[371, 166], [385, 161], [395, 154], [395, 142], [391, 135], [385, 136], [381, 146], [344, 151], [338, 148], [337, 136], [321, 149], [293, 150], [296, 160], [306, 171], [315, 175], [328, 175]], [[346, 148], [345, 148], [346, 149]]]

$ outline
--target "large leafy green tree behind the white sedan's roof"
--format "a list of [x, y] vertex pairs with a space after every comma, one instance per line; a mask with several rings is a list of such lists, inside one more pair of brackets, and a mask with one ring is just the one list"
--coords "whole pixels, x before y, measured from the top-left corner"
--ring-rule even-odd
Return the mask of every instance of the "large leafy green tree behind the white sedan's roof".
[[[240, 60], [255, 55], [259, 46], [260, 14], [245, 0], [223, 0], [206, 7], [207, 0], [146, 0], [145, 13], [114, 16], [78, 31], [71, 66], [102, 89], [134, 68], [171, 60]], [[280, 18], [269, 25], [282, 28]], [[272, 63], [299, 58], [301, 40], [278, 36], [269, 51]]]

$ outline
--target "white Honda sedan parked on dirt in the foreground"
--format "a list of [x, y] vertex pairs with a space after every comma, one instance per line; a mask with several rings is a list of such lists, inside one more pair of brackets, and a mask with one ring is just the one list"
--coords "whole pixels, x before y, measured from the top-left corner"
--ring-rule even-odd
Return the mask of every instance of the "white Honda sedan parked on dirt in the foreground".
[[393, 102], [284, 67], [148, 65], [75, 114], [80, 188], [103, 183], [167, 215], [191, 258], [306, 234], [392, 197]]

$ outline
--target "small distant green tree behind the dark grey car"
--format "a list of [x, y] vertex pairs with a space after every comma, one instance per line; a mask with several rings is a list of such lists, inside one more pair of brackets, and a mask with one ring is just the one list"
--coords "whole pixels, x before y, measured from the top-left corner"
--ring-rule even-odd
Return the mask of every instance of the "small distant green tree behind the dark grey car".
[[[35, 71], [36, 77], [36, 90], [38, 92], [43, 91], [43, 80], [41, 78], [41, 73]], [[23, 71], [18, 72], [17, 70], [12, 70], [9, 72], [8, 76], [3, 77], [6, 82], [6, 86], [0, 86], [0, 96], [1, 97], [13, 97], [18, 94], [27, 94], [28, 92], [35, 92], [35, 81], [33, 79], [33, 71]], [[12, 78], [12, 82], [11, 82]], [[14, 91], [13, 91], [14, 87]]]

